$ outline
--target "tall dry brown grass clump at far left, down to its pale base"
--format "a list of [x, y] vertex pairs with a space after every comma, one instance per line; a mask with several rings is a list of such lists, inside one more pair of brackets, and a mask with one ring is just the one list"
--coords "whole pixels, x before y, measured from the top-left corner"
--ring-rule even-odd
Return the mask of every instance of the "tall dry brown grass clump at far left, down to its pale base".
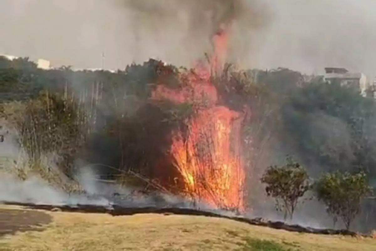
[[43, 90], [35, 99], [1, 103], [0, 118], [14, 131], [20, 149], [7, 169], [23, 180], [38, 173], [64, 190], [80, 190], [67, 177], [73, 176], [76, 153], [96, 123], [99, 85], [93, 84], [89, 96], [85, 89], [75, 97], [65, 85], [64, 92]]

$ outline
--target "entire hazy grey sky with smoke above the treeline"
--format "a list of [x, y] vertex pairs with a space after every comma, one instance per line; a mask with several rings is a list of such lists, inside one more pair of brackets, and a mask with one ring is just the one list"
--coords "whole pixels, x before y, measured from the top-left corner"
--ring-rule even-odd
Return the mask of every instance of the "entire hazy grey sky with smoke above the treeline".
[[[159, 58], [190, 65], [233, 19], [230, 60], [241, 67], [325, 66], [376, 75], [374, 0], [0, 0], [0, 54], [54, 66], [105, 68]], [[227, 19], [226, 19], [227, 18]]]

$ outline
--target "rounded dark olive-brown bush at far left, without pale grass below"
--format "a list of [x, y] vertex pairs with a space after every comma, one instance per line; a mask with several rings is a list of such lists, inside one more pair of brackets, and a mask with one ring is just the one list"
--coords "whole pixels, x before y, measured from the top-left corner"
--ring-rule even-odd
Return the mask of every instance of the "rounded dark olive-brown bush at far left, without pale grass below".
[[71, 99], [48, 91], [27, 102], [0, 105], [0, 118], [17, 131], [18, 143], [29, 160], [39, 166], [43, 156], [61, 156], [60, 167], [69, 173], [76, 151], [87, 133], [85, 110]]

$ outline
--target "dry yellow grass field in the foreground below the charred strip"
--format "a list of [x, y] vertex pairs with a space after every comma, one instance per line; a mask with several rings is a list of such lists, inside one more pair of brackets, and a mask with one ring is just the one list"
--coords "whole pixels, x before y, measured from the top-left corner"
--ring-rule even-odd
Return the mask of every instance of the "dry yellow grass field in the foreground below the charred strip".
[[[23, 219], [26, 220], [23, 215], [35, 211], [3, 205], [0, 205], [0, 210], [3, 215], [6, 213], [14, 215], [13, 225], [20, 225]], [[204, 216], [162, 214], [110, 216], [94, 213], [35, 212], [38, 215], [43, 212], [49, 216], [50, 222], [38, 224], [36, 223], [38, 217], [44, 220], [46, 217], [27, 216], [33, 217], [34, 224], [37, 226], [29, 226], [29, 229], [24, 228], [22, 232], [0, 235], [0, 250], [376, 250], [376, 239], [371, 238], [293, 233]], [[17, 213], [18, 218], [15, 216]], [[9, 218], [0, 219], [0, 224], [3, 226], [5, 219]], [[7, 225], [12, 224], [8, 222]]]

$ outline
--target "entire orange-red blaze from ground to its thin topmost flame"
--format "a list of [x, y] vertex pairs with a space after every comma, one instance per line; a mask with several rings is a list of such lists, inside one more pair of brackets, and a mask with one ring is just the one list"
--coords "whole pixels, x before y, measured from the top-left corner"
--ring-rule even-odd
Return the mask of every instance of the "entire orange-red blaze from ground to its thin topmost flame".
[[158, 85], [155, 100], [193, 104], [194, 115], [186, 122], [186, 131], [171, 132], [170, 157], [183, 179], [184, 193], [193, 201], [215, 208], [244, 209], [244, 169], [240, 153], [242, 115], [218, 105], [218, 94], [211, 82], [224, 59], [227, 35], [214, 38], [215, 56], [211, 65], [197, 64], [194, 73], [182, 76], [184, 86], [170, 89]]

